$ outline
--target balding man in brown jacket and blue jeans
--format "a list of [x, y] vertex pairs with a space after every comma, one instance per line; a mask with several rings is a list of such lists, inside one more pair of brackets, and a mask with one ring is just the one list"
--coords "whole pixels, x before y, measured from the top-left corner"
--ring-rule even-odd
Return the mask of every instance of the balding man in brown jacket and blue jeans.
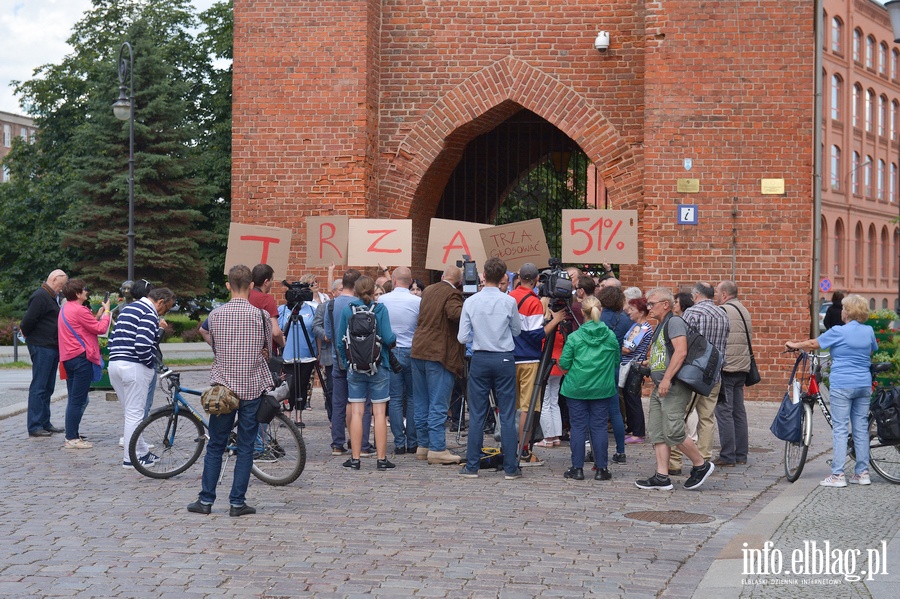
[[465, 359], [465, 346], [456, 339], [462, 315], [461, 280], [462, 271], [448, 266], [441, 281], [422, 292], [410, 349], [416, 457], [429, 464], [458, 464], [462, 459], [447, 449], [446, 436], [450, 392], [455, 377], [463, 375]]

